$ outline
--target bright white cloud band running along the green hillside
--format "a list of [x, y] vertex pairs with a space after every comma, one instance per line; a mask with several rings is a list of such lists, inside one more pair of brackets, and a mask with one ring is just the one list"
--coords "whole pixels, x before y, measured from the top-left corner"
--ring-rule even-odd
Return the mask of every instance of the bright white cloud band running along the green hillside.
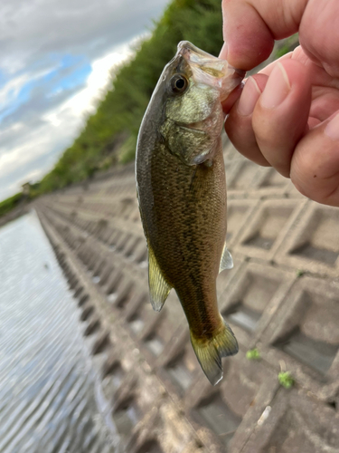
[[[58, 143], [60, 143], [60, 151], [68, 146], [67, 144], [71, 145], [72, 140], [83, 126], [86, 115], [95, 111], [97, 101], [107, 91], [112, 80], [112, 71], [131, 55], [130, 45], [125, 43], [119, 45], [104, 57], [95, 60], [91, 64], [92, 71], [86, 85], [80, 92], [53, 111], [45, 114], [42, 117], [42, 126], [28, 132], [25, 131], [23, 140], [20, 140], [20, 143], [13, 149], [5, 149], [0, 146], [0, 179], [5, 178], [6, 174], [11, 173], [19, 166], [24, 169], [29, 162], [47, 154]], [[3, 130], [2, 133], [15, 132], [15, 134], [20, 134], [23, 129], [23, 123], [14, 123], [13, 126]], [[59, 154], [56, 152], [53, 159], [50, 159], [49, 165], [52, 166], [58, 157]], [[27, 168], [24, 174], [17, 179], [16, 186], [11, 184], [5, 192], [0, 192], [0, 199], [10, 195], [13, 191], [19, 190], [21, 184], [25, 181], [34, 182], [42, 178], [46, 171], [48, 171], [48, 168], [45, 166], [40, 169]]]

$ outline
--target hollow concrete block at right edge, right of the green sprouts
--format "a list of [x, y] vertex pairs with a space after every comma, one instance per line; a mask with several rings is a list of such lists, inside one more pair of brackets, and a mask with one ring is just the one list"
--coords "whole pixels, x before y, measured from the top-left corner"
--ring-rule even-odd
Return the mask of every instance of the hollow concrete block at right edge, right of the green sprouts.
[[321, 400], [339, 388], [339, 284], [301, 277], [262, 334], [265, 360]]

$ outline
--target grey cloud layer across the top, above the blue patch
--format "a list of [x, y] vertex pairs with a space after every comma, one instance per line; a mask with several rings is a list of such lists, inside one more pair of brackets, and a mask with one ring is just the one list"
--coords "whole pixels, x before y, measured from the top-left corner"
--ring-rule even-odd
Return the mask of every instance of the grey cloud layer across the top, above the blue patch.
[[[43, 65], [64, 53], [99, 58], [141, 34], [164, 8], [160, 0], [7, 0], [0, 7], [0, 61], [6, 72]], [[42, 61], [41, 61], [42, 59]]]

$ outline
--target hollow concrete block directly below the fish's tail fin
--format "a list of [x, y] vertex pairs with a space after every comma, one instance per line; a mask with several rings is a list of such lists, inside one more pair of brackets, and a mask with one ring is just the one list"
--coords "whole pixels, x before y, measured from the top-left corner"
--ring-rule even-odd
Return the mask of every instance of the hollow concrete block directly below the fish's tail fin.
[[[262, 364], [239, 352], [223, 361], [224, 379], [215, 388], [201, 385], [186, 399], [193, 427], [215, 451], [240, 452], [256, 421], [277, 391], [277, 381]], [[250, 376], [250, 380], [249, 380]]]

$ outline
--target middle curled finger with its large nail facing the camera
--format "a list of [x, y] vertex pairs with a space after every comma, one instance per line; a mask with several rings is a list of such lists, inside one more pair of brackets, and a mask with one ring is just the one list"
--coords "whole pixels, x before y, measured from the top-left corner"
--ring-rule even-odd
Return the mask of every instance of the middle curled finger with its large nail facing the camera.
[[311, 98], [306, 67], [286, 60], [270, 73], [253, 111], [252, 126], [262, 155], [287, 178], [294, 149], [307, 130]]

